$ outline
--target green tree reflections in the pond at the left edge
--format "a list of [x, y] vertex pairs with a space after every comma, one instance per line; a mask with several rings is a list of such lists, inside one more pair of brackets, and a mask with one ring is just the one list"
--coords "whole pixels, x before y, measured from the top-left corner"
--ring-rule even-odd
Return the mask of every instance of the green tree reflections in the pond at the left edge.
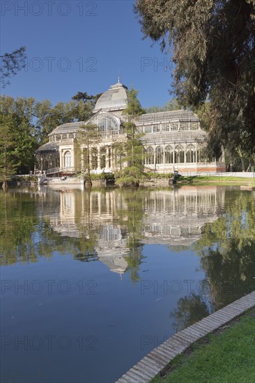
[[34, 214], [35, 199], [35, 195], [31, 198], [24, 192], [0, 193], [1, 265], [36, 262], [55, 251], [79, 254], [79, 258], [95, 253], [97, 233], [92, 224], [86, 230], [80, 228], [80, 237], [63, 236], [52, 228], [49, 219]]

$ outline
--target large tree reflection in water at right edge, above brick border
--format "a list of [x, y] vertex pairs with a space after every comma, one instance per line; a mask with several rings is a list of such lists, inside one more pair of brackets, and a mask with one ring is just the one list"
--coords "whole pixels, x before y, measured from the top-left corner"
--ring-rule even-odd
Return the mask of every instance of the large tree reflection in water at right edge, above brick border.
[[226, 216], [206, 225], [194, 249], [201, 256], [215, 308], [254, 290], [255, 199], [232, 192]]

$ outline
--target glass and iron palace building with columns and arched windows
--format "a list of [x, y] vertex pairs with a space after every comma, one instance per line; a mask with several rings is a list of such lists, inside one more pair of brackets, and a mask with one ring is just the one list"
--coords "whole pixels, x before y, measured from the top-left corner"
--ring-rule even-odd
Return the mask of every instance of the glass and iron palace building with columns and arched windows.
[[[36, 171], [45, 171], [48, 175], [86, 171], [87, 157], [94, 173], [114, 173], [120, 169], [121, 155], [117, 148], [118, 143], [127, 140], [126, 116], [123, 115], [127, 93], [127, 87], [118, 81], [99, 97], [91, 118], [56, 127], [49, 134], [49, 142], [36, 150]], [[224, 159], [207, 161], [203, 150], [207, 134], [201, 129], [199, 117], [192, 111], [143, 114], [134, 122], [138, 132], [143, 134], [141, 141], [147, 171], [168, 173], [177, 170], [183, 174], [225, 171]], [[84, 145], [80, 145], [80, 154], [77, 155], [79, 131], [88, 123], [98, 126], [100, 142], [91, 145], [89, 153]]]

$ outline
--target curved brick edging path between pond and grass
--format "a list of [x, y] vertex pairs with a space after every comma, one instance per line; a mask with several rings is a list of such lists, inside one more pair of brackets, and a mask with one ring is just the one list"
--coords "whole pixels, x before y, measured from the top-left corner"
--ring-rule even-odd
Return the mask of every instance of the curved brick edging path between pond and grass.
[[[245, 297], [221, 308], [208, 317], [199, 320], [194, 325], [187, 327], [176, 335], [171, 336], [162, 345], [156, 347], [146, 357], [141, 359], [134, 367], [130, 368], [119, 380], [118, 383], [148, 383], [160, 371], [176, 357], [185, 351], [192, 343], [203, 336], [210, 334], [222, 325], [230, 322], [240, 314], [255, 305], [255, 290]], [[116, 382], [116, 383], [117, 383]]]

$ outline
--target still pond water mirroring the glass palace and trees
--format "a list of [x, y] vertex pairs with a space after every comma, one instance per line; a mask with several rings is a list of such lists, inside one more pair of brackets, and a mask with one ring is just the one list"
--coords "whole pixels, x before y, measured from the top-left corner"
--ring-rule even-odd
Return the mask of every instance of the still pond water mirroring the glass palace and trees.
[[254, 290], [255, 194], [0, 193], [1, 382], [115, 382]]

